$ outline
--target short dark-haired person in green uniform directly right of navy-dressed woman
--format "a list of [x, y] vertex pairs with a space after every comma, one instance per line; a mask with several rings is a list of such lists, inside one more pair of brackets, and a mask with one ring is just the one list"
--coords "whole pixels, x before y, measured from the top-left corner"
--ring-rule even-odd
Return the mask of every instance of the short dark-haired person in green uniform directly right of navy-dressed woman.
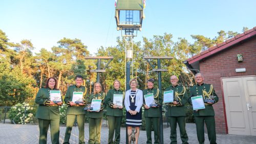
[[[154, 102], [150, 105], [145, 103], [145, 95], [153, 93]], [[154, 129], [154, 143], [159, 143], [159, 117], [162, 112], [159, 110], [159, 106], [162, 104], [161, 91], [158, 88], [154, 88], [154, 79], [147, 80], [147, 89], [143, 90], [143, 107], [145, 117], [146, 128], [146, 143], [152, 143], [151, 127]]]

